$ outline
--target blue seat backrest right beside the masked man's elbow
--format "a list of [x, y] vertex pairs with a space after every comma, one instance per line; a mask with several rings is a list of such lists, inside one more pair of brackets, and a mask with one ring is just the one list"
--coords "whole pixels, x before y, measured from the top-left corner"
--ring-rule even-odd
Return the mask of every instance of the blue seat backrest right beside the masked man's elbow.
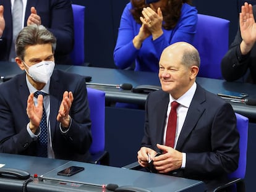
[[90, 117], [92, 120], [91, 154], [105, 149], [105, 92], [87, 88]]

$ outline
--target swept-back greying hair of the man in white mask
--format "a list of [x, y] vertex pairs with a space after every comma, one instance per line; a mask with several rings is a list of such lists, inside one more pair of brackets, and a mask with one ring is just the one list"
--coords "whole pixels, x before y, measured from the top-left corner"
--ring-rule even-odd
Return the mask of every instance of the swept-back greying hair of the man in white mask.
[[28, 25], [24, 27], [15, 42], [15, 51], [20, 59], [24, 59], [26, 46], [51, 43], [53, 52], [56, 48], [56, 38], [43, 25]]

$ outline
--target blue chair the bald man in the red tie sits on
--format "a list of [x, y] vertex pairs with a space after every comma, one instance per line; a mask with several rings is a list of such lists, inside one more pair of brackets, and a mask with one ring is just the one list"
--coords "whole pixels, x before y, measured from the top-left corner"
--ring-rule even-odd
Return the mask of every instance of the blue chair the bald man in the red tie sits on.
[[246, 170], [246, 158], [247, 158], [247, 140], [248, 140], [248, 125], [249, 120], [247, 117], [236, 113], [236, 121], [237, 121], [237, 130], [240, 134], [239, 141], [239, 165], [236, 171], [229, 174], [229, 179], [231, 182], [226, 183], [223, 186], [219, 186], [214, 190], [214, 192], [222, 191], [225, 188], [232, 187], [232, 191], [245, 191], [245, 170]]

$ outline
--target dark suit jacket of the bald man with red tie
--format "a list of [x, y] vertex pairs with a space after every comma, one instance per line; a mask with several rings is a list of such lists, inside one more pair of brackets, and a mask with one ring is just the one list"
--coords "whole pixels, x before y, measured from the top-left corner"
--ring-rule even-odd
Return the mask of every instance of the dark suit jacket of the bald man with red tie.
[[[159, 151], [156, 144], [163, 143], [168, 102], [169, 94], [163, 90], [148, 94], [142, 146]], [[226, 181], [239, 159], [239, 133], [231, 105], [197, 85], [176, 149], [187, 154], [186, 169], [171, 175], [203, 180], [208, 189]]]

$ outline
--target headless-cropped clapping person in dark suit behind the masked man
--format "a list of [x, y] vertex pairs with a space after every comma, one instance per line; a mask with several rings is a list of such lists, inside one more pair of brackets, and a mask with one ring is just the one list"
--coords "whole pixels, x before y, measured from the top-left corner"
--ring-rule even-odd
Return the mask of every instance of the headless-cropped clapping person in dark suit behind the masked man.
[[23, 27], [44, 25], [57, 38], [56, 64], [72, 64], [74, 21], [70, 0], [0, 0], [0, 61], [15, 62], [15, 39]]

